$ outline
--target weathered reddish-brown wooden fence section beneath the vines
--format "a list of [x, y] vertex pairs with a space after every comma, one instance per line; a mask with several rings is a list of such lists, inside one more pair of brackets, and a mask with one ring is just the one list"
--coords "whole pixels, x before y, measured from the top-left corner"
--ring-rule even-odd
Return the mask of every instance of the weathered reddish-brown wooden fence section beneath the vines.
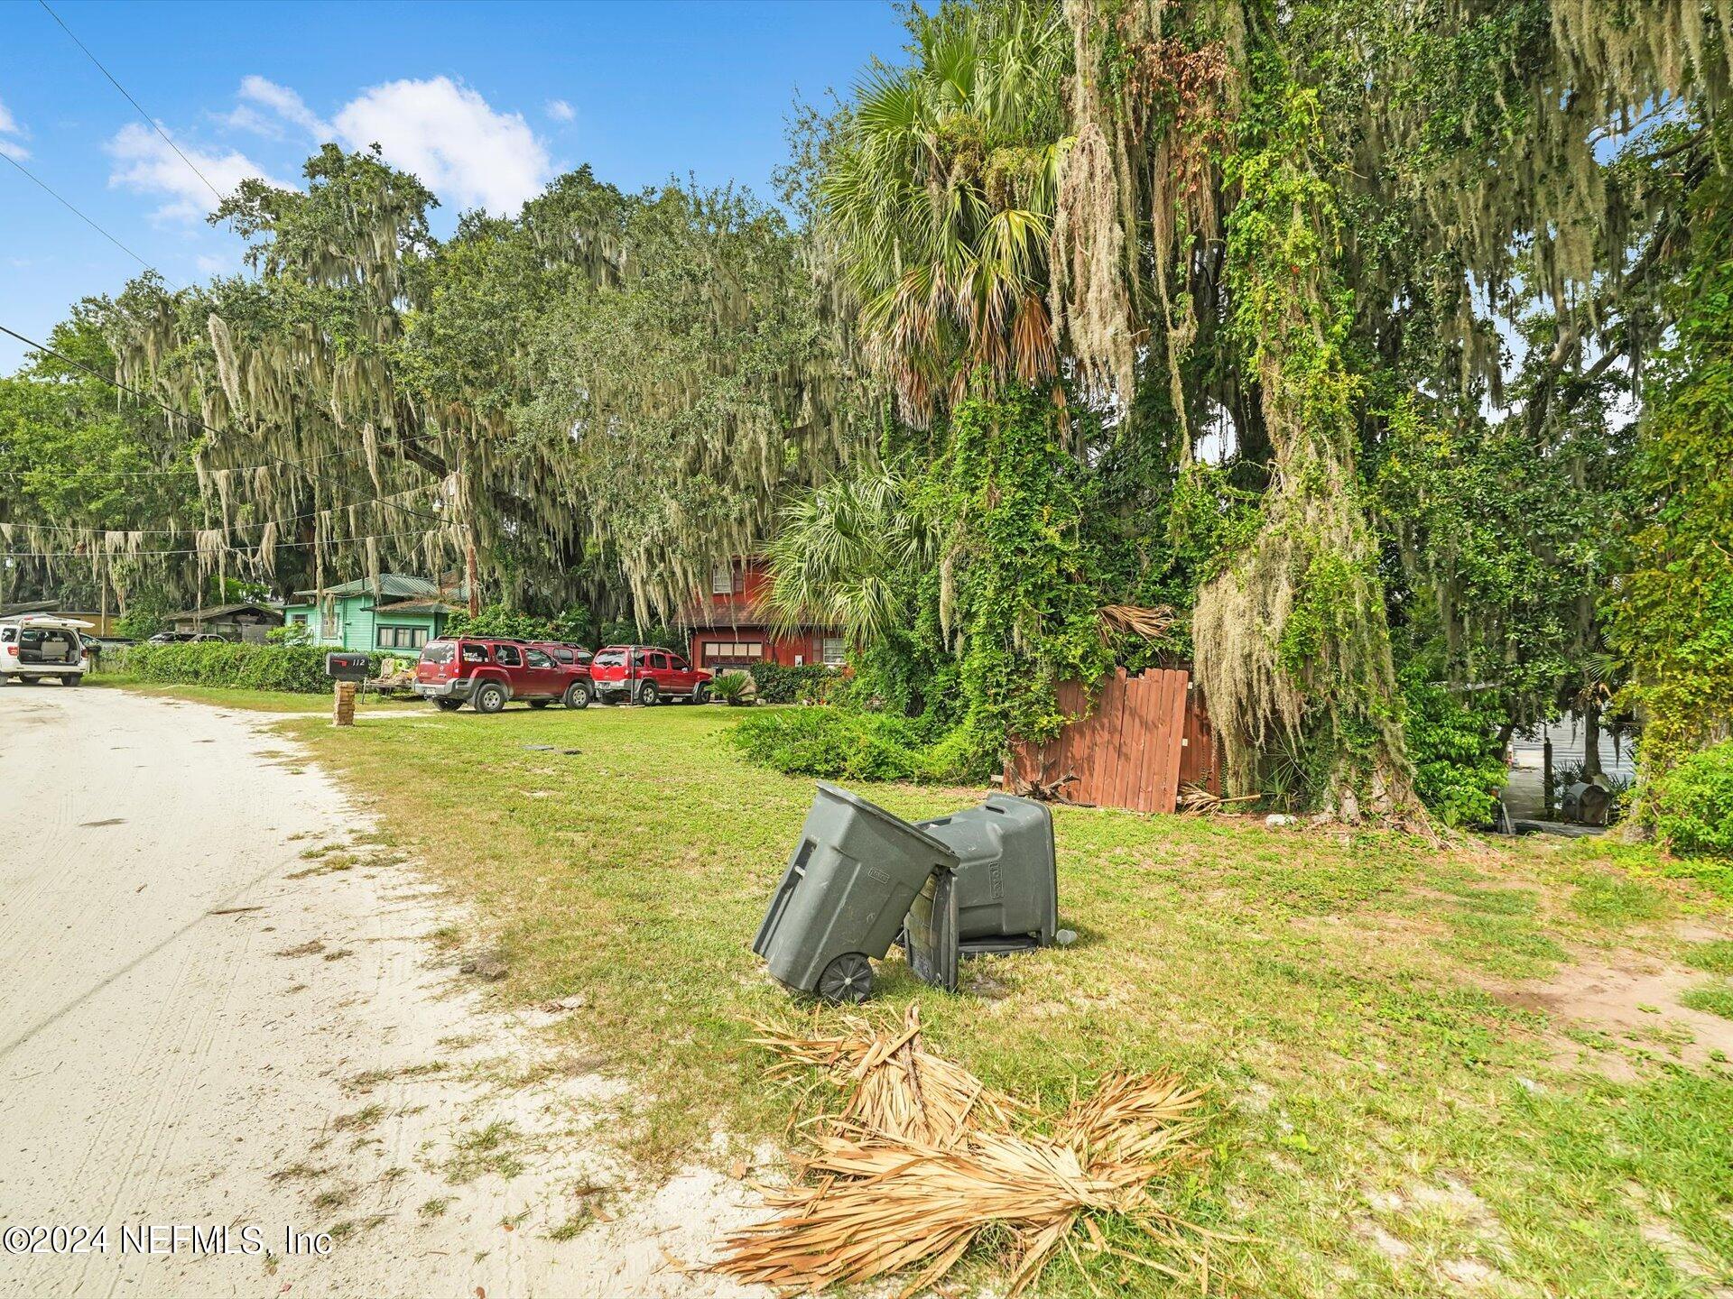
[[1007, 790], [1135, 812], [1175, 811], [1184, 785], [1222, 792], [1215, 731], [1184, 669], [1135, 677], [1118, 669], [1100, 682], [1094, 708], [1083, 682], [1066, 681], [1059, 707], [1080, 721], [1043, 745], [1016, 741]]

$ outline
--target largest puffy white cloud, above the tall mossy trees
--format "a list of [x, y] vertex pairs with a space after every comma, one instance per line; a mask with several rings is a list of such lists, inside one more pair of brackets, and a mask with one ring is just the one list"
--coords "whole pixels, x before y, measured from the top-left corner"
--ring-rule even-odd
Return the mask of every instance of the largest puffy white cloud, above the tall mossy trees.
[[522, 114], [496, 113], [447, 76], [376, 85], [345, 104], [334, 125], [350, 149], [378, 144], [388, 163], [464, 208], [511, 215], [551, 171]]

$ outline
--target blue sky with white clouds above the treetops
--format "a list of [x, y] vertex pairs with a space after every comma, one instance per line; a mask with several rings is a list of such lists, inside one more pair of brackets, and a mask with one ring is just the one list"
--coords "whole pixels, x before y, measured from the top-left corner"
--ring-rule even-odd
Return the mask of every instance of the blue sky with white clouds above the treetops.
[[[846, 90], [903, 42], [889, 0], [50, 3], [218, 189], [298, 182], [322, 139], [380, 140], [440, 196], [440, 234], [581, 163], [768, 197], [795, 92]], [[0, 3], [0, 152], [178, 284], [239, 268], [204, 182], [23, 0]], [[43, 338], [137, 270], [0, 163], [0, 324]], [[0, 336], [0, 372], [23, 352]]]

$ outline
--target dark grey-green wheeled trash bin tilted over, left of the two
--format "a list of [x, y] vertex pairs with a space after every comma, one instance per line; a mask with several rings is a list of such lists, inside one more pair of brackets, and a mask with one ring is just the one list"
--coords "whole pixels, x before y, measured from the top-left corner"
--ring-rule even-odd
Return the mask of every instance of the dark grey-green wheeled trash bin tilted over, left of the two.
[[870, 960], [891, 949], [922, 887], [957, 866], [941, 838], [820, 781], [752, 951], [797, 992], [865, 1001]]

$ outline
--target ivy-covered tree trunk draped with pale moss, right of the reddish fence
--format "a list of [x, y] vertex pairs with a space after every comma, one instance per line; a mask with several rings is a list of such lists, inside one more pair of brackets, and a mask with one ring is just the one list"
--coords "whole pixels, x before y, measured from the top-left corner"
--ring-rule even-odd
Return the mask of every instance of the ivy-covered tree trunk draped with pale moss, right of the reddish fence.
[[[1274, 478], [1251, 546], [1198, 596], [1198, 677], [1236, 793], [1272, 779], [1345, 819], [1421, 814], [1402, 738], [1378, 549], [1355, 468], [1352, 298], [1315, 92], [1253, 52], [1225, 222], [1230, 334], [1262, 390]], [[1279, 766], [1288, 769], [1286, 778]]]

